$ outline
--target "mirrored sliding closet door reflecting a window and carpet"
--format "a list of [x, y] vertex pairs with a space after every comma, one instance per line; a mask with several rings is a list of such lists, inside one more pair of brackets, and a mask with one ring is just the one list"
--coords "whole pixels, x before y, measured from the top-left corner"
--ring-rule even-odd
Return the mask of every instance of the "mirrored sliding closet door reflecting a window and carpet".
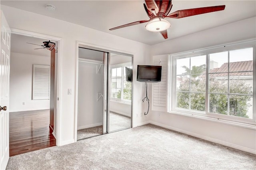
[[109, 132], [131, 127], [132, 57], [110, 53], [108, 85]]

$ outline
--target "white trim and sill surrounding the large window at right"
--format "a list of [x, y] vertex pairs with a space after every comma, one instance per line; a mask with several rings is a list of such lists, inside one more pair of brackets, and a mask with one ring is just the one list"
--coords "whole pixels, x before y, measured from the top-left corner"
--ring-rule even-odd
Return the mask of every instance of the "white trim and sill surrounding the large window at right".
[[[191, 56], [191, 55], [200, 55], [202, 53], [206, 53], [206, 63], [208, 64], [208, 54], [209, 53], [217, 53], [222, 51], [230, 51], [235, 49], [242, 49], [242, 48], [249, 48], [253, 47], [253, 117], [252, 119], [248, 118], [242, 118], [242, 117], [232, 117], [230, 115], [218, 115], [216, 113], [207, 113], [208, 112], [208, 106], [206, 105], [206, 113], [200, 113], [200, 111], [189, 111], [188, 109], [175, 109], [175, 100], [174, 100], [174, 94], [176, 90], [176, 83], [174, 83], [174, 86], [172, 86], [172, 82], [175, 82], [176, 76], [175, 75], [175, 62], [174, 58], [176, 57], [185, 57], [185, 56]], [[168, 113], [178, 114], [178, 115], [186, 115], [190, 117], [197, 117], [201, 119], [207, 119], [210, 121], [218, 121], [222, 123], [228, 123], [232, 125], [238, 125], [242, 127], [247, 128], [255, 128], [256, 125], [256, 59], [255, 59], [255, 49], [256, 49], [256, 39], [250, 39], [235, 43], [228, 43], [223, 45], [217, 45], [214, 47], [207, 47], [203, 49], [196, 49], [192, 51], [186, 51], [182, 53], [175, 53], [168, 56]], [[206, 74], [208, 71], [206, 72]], [[208, 91], [208, 81], [206, 80], [206, 91]], [[208, 94], [208, 93], [207, 93]], [[206, 95], [206, 101], [208, 100], [208, 96]], [[208, 101], [207, 101], [208, 102]]]

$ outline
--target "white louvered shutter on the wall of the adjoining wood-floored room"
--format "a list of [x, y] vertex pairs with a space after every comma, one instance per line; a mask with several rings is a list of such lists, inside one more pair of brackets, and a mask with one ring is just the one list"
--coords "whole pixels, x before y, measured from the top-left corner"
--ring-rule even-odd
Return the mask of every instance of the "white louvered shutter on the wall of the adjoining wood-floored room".
[[50, 65], [33, 65], [32, 100], [50, 99]]

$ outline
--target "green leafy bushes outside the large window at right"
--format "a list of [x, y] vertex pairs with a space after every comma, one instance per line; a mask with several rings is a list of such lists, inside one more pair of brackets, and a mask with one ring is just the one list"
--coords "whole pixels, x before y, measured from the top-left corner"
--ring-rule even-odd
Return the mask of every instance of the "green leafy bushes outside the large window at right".
[[[191, 81], [191, 82], [190, 82]], [[205, 79], [190, 80], [186, 79], [179, 87], [177, 92], [177, 107], [196, 111], [205, 111]], [[215, 93], [227, 93], [227, 82], [225, 80], [211, 79], [209, 83], [209, 91]], [[193, 91], [188, 93], [183, 91]], [[242, 79], [230, 80], [230, 93], [236, 94], [252, 94], [252, 86], [247, 84]], [[229, 115], [236, 117], [248, 118], [247, 112], [251, 101], [251, 95], [230, 95], [229, 98]], [[209, 110], [211, 113], [219, 113], [227, 115], [228, 113], [228, 96], [225, 94], [210, 94], [209, 95]]]

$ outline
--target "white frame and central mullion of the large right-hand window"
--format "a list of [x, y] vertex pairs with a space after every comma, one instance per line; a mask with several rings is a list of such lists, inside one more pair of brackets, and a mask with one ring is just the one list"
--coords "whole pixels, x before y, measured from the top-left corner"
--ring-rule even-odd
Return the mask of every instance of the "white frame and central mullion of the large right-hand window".
[[[210, 113], [208, 112], [209, 107], [209, 91], [208, 91], [208, 71], [209, 71], [209, 57], [211, 53], [218, 53], [218, 52], [224, 52], [224, 51], [232, 51], [236, 49], [245, 49], [245, 48], [253, 48], [253, 103], [252, 103], [252, 119], [243, 118], [243, 117], [235, 117], [231, 115], [221, 115], [218, 113]], [[241, 42], [235, 42], [235, 43], [228, 43], [224, 45], [217, 45], [213, 47], [203, 48], [203, 49], [197, 49], [193, 51], [186, 51], [182, 53], [175, 53], [170, 54], [168, 56], [168, 113], [175, 113], [175, 114], [181, 114], [181, 115], [190, 115], [190, 116], [199, 116], [205, 119], [217, 119], [221, 121], [232, 121], [236, 123], [246, 123], [250, 125], [256, 125], [256, 56], [255, 56], [255, 50], [256, 50], [256, 40], [246, 40]], [[180, 109], [176, 107], [176, 62], [175, 59], [177, 58], [186, 58], [186, 57], [192, 57], [192, 56], [198, 56], [198, 55], [206, 55], [206, 92], [205, 92], [205, 101], [206, 101], [206, 109], [204, 111], [192, 111], [189, 109]], [[172, 83], [173, 82], [173, 83]], [[191, 92], [190, 92], [191, 93]], [[229, 94], [230, 92], [228, 92]]]

